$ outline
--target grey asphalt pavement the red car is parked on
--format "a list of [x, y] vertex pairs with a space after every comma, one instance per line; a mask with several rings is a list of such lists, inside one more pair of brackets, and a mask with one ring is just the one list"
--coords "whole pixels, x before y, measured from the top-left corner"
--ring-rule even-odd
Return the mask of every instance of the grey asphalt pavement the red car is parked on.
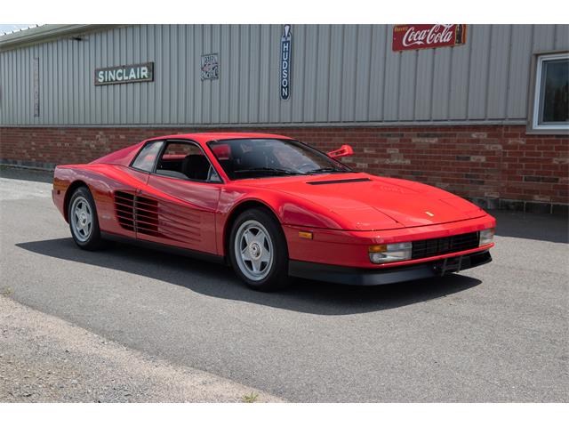
[[569, 397], [566, 218], [495, 212], [493, 262], [445, 278], [261, 294], [216, 264], [81, 251], [49, 174], [0, 176], [0, 291], [127, 348], [290, 401]]

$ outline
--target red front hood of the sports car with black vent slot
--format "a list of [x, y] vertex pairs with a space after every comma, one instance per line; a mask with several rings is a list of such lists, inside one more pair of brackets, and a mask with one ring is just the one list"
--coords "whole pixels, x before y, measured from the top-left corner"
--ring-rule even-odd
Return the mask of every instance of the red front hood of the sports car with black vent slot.
[[[442, 189], [367, 173], [340, 173], [262, 180], [293, 197], [321, 205], [344, 230], [387, 230], [456, 222], [485, 212]], [[301, 224], [299, 224], [301, 225]]]

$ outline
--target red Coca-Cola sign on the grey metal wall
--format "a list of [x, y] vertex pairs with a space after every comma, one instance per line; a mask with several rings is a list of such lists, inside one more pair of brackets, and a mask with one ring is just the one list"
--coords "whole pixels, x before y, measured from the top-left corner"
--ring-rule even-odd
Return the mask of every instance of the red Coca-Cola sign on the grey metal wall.
[[466, 24], [404, 24], [393, 27], [393, 50], [410, 51], [466, 42]]

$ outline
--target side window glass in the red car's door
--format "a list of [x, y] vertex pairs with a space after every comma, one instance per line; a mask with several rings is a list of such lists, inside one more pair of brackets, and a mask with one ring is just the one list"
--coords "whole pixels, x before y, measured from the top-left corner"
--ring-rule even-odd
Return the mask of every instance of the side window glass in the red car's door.
[[191, 142], [168, 142], [158, 159], [156, 174], [180, 180], [220, 182], [202, 149]]

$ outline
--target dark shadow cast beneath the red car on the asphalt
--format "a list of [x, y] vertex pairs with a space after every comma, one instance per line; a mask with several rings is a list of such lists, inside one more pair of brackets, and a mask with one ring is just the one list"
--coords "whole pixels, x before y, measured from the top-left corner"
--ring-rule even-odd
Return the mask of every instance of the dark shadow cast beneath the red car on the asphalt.
[[397, 307], [441, 298], [481, 282], [453, 274], [384, 286], [341, 286], [293, 279], [292, 286], [274, 294], [255, 292], [242, 284], [233, 271], [219, 264], [179, 255], [116, 244], [100, 252], [78, 249], [71, 238], [20, 243], [27, 251], [154, 278], [213, 297], [263, 304], [284, 310], [320, 315], [345, 315]]

